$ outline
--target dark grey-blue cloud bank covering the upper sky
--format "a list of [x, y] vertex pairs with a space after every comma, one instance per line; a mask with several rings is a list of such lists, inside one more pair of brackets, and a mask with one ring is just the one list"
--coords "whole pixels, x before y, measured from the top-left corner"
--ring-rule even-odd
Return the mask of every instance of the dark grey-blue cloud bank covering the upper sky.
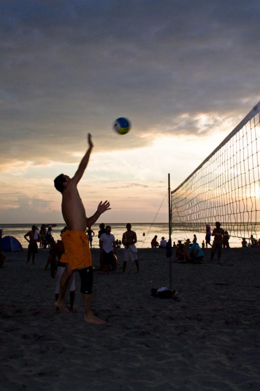
[[[246, 114], [259, 95], [260, 6], [243, 4], [3, 1], [2, 159], [73, 162], [87, 131], [97, 149], [131, 149], [158, 130], [200, 133], [201, 112]], [[122, 115], [127, 143], [111, 130]]]

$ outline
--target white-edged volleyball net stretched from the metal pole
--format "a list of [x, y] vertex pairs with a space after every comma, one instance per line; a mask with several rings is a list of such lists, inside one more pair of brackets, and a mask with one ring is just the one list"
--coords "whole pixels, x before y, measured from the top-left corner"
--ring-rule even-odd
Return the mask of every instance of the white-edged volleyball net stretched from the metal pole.
[[220, 221], [231, 236], [260, 231], [260, 102], [171, 192], [172, 229], [205, 232]]

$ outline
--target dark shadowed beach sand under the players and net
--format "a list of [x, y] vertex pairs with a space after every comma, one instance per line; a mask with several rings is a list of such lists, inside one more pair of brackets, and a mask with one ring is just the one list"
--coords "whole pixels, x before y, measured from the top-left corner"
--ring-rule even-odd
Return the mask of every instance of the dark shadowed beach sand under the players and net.
[[[173, 262], [174, 299], [164, 250], [139, 250], [121, 273], [94, 272], [93, 307], [105, 326], [77, 313], [56, 314], [47, 251], [6, 253], [0, 269], [1, 390], [260, 390], [260, 248], [223, 252], [223, 265]], [[99, 250], [93, 250], [98, 265]]]

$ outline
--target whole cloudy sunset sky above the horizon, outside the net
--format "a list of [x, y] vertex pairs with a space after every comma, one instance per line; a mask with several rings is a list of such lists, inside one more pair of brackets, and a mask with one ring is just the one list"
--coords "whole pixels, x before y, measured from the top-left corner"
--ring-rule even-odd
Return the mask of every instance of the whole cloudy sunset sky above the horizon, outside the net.
[[87, 132], [87, 215], [108, 199], [107, 222], [153, 221], [167, 174], [174, 189], [259, 102], [259, 20], [255, 0], [2, 0], [0, 222], [62, 222], [53, 179]]

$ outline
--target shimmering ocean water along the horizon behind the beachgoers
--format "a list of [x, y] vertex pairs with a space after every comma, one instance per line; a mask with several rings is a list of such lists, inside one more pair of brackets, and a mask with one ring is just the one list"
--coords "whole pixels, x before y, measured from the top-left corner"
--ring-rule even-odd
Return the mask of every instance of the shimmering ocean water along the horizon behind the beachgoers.
[[[40, 229], [41, 223], [36, 224]], [[51, 225], [51, 224], [50, 224]], [[126, 231], [126, 223], [113, 223], [110, 224], [112, 227], [111, 233], [115, 236], [116, 239], [122, 239], [122, 234]], [[28, 247], [28, 242], [24, 239], [24, 235], [31, 230], [32, 224], [0, 224], [0, 228], [3, 230], [3, 236], [11, 235], [18, 239], [23, 248]], [[57, 224], [55, 227], [52, 227], [52, 235], [55, 240], [60, 239], [60, 230], [64, 227], [64, 224]], [[99, 246], [98, 232], [99, 232], [99, 223], [93, 224], [91, 227], [95, 232], [93, 238], [92, 246]], [[213, 229], [214, 227], [212, 227]], [[224, 227], [223, 227], [224, 228]], [[256, 233], [254, 232], [254, 237], [256, 239], [260, 238], [260, 225], [256, 227]], [[224, 228], [225, 229], [225, 228]], [[139, 248], [148, 248], [150, 247], [150, 242], [155, 235], [158, 236], [158, 241], [161, 237], [164, 236], [166, 240], [169, 238], [169, 225], [168, 223], [132, 223], [132, 230], [137, 234], [137, 246]], [[205, 239], [204, 233], [196, 232], [183, 232], [183, 231], [173, 231], [172, 232], [172, 241], [177, 243], [178, 240], [184, 240], [189, 238], [191, 241], [193, 235], [197, 235], [198, 243], [201, 245], [202, 240]], [[229, 240], [231, 247], [240, 247], [241, 239], [236, 237], [231, 237]]]

